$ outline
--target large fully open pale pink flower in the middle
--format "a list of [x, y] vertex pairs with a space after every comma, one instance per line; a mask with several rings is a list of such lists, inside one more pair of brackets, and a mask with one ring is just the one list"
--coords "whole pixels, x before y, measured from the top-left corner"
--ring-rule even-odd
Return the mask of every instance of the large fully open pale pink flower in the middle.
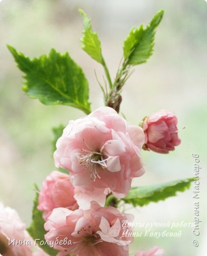
[[55, 165], [70, 171], [74, 186], [90, 191], [109, 188], [127, 195], [131, 180], [144, 173], [140, 149], [143, 129], [129, 125], [110, 107], [70, 121], [57, 140]]

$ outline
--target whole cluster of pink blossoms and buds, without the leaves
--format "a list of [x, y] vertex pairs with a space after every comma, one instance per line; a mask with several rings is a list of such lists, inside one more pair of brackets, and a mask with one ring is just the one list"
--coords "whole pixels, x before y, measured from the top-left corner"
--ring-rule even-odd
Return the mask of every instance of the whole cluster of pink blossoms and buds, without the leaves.
[[[104, 207], [106, 197], [127, 196], [131, 181], [144, 174], [142, 148], [168, 153], [180, 140], [177, 118], [160, 111], [145, 118], [142, 127], [130, 125], [114, 109], [102, 107], [85, 118], [70, 121], [57, 140], [56, 167], [70, 172], [53, 171], [39, 192], [38, 209], [43, 212], [45, 239], [48, 242], [68, 239], [72, 244], [54, 243], [57, 256], [128, 256], [132, 237], [122, 236], [123, 221], [133, 215]], [[125, 230], [124, 230], [125, 228]], [[128, 228], [131, 232], [131, 228]], [[8, 246], [9, 239], [26, 239], [30, 246]], [[0, 253], [3, 255], [46, 256], [34, 242], [17, 213], [0, 210]], [[135, 256], [162, 256], [153, 247]]]

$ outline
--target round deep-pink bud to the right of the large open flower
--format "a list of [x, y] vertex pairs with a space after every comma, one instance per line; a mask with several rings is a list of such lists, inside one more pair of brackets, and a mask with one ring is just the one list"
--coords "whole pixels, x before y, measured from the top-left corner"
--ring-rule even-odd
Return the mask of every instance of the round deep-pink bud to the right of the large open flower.
[[177, 129], [177, 117], [167, 111], [160, 110], [147, 117], [143, 123], [146, 149], [167, 154], [180, 144]]

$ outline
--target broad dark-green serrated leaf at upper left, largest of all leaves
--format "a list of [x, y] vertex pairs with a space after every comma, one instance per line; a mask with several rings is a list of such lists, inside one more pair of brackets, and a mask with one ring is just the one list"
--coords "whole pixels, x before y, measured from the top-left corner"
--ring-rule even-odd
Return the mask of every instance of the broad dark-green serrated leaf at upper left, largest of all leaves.
[[69, 105], [90, 113], [88, 81], [68, 53], [54, 49], [49, 55], [30, 60], [8, 46], [18, 67], [25, 74], [22, 90], [45, 105]]

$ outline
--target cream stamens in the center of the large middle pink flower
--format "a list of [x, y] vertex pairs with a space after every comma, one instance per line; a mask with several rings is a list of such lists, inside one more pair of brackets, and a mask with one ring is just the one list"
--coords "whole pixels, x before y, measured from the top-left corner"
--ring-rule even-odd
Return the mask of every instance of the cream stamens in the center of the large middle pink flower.
[[79, 165], [83, 165], [86, 168], [90, 170], [90, 178], [92, 180], [96, 180], [96, 178], [101, 179], [100, 175], [98, 175], [98, 172], [100, 171], [100, 166], [103, 169], [107, 168], [106, 161], [107, 156], [103, 154], [101, 151], [88, 151], [85, 149], [82, 149], [86, 154], [80, 154], [78, 156], [78, 163]]

